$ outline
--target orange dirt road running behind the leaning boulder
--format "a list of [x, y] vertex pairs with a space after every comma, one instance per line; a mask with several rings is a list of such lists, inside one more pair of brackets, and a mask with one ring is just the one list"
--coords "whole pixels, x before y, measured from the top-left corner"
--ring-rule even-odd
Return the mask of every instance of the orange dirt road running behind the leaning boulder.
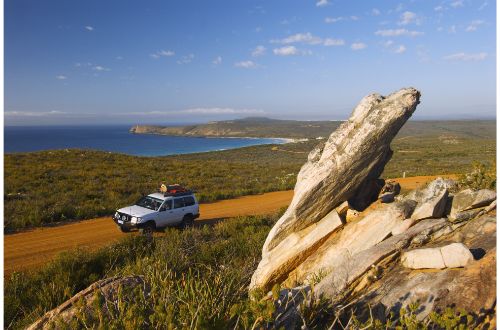
[[[435, 176], [420, 176], [396, 180], [402, 189], [407, 191], [422, 186], [434, 178]], [[288, 206], [292, 197], [293, 191], [289, 190], [201, 204], [201, 217], [196, 223], [209, 224], [240, 215], [269, 214]], [[111, 244], [126, 235], [134, 233], [122, 233], [110, 217], [5, 235], [5, 274], [39, 267], [62, 251], [77, 247], [95, 249]]]

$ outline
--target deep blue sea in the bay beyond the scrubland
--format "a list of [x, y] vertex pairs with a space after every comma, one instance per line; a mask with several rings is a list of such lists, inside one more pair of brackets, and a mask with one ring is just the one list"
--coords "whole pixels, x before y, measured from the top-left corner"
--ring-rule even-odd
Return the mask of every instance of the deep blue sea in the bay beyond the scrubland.
[[204, 138], [131, 134], [131, 126], [7, 126], [4, 152], [95, 149], [136, 156], [163, 156], [284, 143], [284, 139]]

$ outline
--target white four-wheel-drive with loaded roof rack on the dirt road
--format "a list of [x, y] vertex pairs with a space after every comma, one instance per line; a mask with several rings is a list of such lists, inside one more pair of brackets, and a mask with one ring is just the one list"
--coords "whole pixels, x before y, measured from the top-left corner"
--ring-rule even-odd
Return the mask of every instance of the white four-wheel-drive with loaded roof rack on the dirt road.
[[116, 211], [113, 220], [123, 232], [133, 228], [143, 234], [169, 226], [189, 226], [200, 216], [198, 201], [193, 192], [153, 193], [134, 205]]

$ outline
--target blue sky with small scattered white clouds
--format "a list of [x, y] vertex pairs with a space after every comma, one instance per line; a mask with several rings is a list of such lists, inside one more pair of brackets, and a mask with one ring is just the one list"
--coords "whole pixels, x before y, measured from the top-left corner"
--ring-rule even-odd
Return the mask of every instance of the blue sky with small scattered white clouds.
[[5, 0], [5, 125], [495, 118], [492, 0]]

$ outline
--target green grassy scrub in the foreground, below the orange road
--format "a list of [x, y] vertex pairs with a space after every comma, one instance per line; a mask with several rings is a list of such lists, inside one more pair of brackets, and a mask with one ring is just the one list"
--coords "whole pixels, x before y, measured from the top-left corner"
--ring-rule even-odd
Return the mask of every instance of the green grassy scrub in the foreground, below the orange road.
[[[240, 217], [214, 226], [171, 229], [147, 240], [128, 238], [96, 252], [76, 250], [59, 256], [43, 269], [13, 273], [5, 281], [5, 327], [24, 328], [92, 282], [115, 275], [143, 275], [147, 287], [124, 290], [117, 301], [97, 299], [80, 309], [62, 328], [225, 329], [262, 328], [276, 324], [279, 287], [274, 299], [262, 292], [248, 296], [250, 277], [260, 260], [262, 244], [283, 210], [274, 216]], [[148, 294], [145, 294], [147, 290]], [[106, 310], [103, 312], [103, 304]], [[454, 329], [485, 322], [455, 310], [417, 319], [418, 305], [391, 314], [388, 320], [356, 316], [349, 306], [326, 300], [300, 307], [300, 325], [324, 329], [350, 324], [367, 329]]]

